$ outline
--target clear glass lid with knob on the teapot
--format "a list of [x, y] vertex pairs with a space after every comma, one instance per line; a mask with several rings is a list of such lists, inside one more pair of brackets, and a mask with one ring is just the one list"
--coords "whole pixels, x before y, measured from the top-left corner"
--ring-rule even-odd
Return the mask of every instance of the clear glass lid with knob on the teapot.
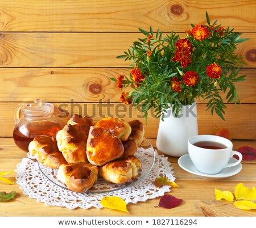
[[25, 104], [22, 107], [22, 113], [25, 117], [47, 117], [54, 111], [53, 104], [42, 102], [36, 99], [32, 104]]

